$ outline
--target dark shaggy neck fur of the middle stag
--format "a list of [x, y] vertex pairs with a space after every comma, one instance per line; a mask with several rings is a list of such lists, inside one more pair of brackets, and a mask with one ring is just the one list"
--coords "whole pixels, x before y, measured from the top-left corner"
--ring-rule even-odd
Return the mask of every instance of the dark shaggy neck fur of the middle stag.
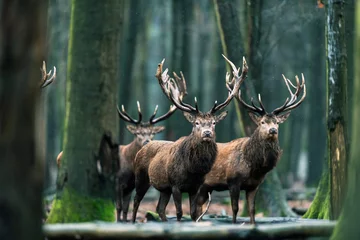
[[203, 141], [190, 134], [179, 146], [176, 158], [184, 164], [188, 172], [205, 175], [211, 170], [216, 155], [215, 141]]

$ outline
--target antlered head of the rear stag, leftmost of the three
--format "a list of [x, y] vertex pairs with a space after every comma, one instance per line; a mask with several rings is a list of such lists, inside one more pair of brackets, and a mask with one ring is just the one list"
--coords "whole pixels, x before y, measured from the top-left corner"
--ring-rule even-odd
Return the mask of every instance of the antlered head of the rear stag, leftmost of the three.
[[137, 102], [137, 107], [139, 114], [138, 120], [135, 120], [129, 116], [129, 114], [125, 111], [124, 105], [121, 106], [121, 110], [119, 109], [119, 107], [117, 108], [117, 110], [121, 119], [133, 124], [127, 125], [126, 128], [129, 130], [129, 132], [135, 135], [136, 142], [143, 146], [146, 143], [150, 142], [154, 138], [155, 134], [160, 133], [165, 129], [164, 126], [154, 126], [154, 124], [169, 118], [176, 111], [176, 107], [170, 106], [170, 109], [167, 113], [158, 118], [155, 118], [158, 110], [158, 105], [156, 105], [155, 111], [148, 122], [141, 121], [142, 113], [139, 102]]

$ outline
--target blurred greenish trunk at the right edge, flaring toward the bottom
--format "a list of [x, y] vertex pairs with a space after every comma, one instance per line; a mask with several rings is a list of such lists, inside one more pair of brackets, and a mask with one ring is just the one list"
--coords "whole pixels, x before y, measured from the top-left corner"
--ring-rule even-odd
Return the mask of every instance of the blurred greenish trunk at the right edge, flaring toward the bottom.
[[348, 166], [347, 191], [344, 200], [343, 211], [338, 220], [332, 240], [340, 239], [359, 239], [360, 228], [357, 221], [360, 215], [360, 2], [356, 2], [356, 35], [355, 35], [355, 54], [354, 68], [355, 81], [353, 88], [353, 108], [352, 108], [352, 134], [351, 150]]

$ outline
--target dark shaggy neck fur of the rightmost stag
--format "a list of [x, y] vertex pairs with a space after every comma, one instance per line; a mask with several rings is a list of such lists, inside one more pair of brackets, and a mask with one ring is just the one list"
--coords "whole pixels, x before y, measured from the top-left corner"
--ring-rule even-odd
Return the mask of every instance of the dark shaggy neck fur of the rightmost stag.
[[261, 138], [258, 129], [249, 138], [244, 148], [244, 159], [256, 172], [268, 172], [273, 169], [281, 155], [278, 139]]

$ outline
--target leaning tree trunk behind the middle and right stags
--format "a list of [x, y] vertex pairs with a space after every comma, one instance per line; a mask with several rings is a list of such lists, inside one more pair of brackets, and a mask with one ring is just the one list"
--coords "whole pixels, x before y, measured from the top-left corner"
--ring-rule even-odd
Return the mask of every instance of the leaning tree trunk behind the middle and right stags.
[[[214, 4], [223, 51], [236, 66], [241, 66], [241, 56], [244, 55], [244, 48], [234, 2], [231, 0], [214, 0]], [[257, 69], [249, 68], [249, 73], [251, 73], [251, 71], [257, 71]], [[230, 69], [228, 69], [228, 72], [230, 72]], [[252, 82], [245, 80], [244, 85], [247, 95], [255, 96]], [[237, 107], [237, 112], [238, 116], [240, 116], [239, 120], [243, 126], [243, 132], [245, 132], [247, 136], [250, 136], [255, 129], [255, 124], [250, 120], [250, 117], [240, 105]], [[269, 194], [272, 194], [271, 196], [275, 197], [277, 201], [267, 201], [266, 199], [270, 196]], [[287, 205], [276, 170], [268, 173], [264, 183], [260, 186], [256, 201], [257, 209], [265, 214], [278, 216], [280, 213], [282, 216], [295, 216], [295, 213], [293, 213]], [[244, 209], [247, 208], [244, 207]]]

